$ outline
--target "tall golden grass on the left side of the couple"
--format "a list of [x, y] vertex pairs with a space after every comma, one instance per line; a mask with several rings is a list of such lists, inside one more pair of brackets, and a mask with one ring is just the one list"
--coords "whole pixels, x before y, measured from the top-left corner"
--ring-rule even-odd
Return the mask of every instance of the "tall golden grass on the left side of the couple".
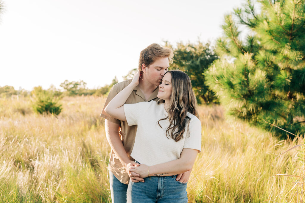
[[62, 103], [55, 117], [34, 114], [29, 98], [0, 100], [0, 202], [109, 201], [104, 99]]

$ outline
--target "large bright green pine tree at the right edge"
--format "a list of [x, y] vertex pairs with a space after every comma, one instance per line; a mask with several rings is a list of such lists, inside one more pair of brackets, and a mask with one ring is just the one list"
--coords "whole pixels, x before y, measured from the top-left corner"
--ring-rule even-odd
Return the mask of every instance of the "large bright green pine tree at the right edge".
[[[206, 72], [228, 112], [285, 135], [305, 127], [304, 0], [247, 1], [225, 16], [224, 37], [217, 40], [220, 59]], [[238, 23], [234, 18], [238, 19]], [[241, 26], [250, 32], [240, 40]]]

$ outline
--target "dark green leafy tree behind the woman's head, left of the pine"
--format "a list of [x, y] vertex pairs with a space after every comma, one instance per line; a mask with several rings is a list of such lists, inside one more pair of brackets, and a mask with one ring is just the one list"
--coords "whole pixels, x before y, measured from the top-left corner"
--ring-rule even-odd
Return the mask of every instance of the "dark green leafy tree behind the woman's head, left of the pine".
[[[168, 42], [166, 42], [166, 46], [173, 48]], [[177, 43], [177, 48], [173, 48], [173, 50], [174, 62], [170, 69], [180, 69], [188, 74], [198, 103], [218, 103], [215, 93], [209, 90], [204, 83], [204, 71], [218, 58], [210, 44], [203, 44], [200, 41], [196, 44], [180, 42]]]

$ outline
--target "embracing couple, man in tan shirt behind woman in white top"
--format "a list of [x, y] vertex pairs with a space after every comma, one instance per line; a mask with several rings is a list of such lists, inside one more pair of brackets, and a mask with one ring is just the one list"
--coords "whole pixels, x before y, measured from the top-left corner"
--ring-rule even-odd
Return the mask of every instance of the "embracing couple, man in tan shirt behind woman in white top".
[[115, 84], [101, 117], [112, 148], [113, 203], [187, 202], [187, 181], [201, 150], [201, 123], [188, 75], [170, 70], [173, 51], [142, 50], [133, 79]]

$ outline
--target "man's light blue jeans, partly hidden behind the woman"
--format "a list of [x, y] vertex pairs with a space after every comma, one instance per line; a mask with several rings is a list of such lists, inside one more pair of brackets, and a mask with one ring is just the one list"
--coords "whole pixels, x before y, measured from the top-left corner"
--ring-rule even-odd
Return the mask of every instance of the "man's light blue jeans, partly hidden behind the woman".
[[111, 171], [109, 171], [109, 183], [112, 203], [126, 203], [128, 185], [121, 183]]

